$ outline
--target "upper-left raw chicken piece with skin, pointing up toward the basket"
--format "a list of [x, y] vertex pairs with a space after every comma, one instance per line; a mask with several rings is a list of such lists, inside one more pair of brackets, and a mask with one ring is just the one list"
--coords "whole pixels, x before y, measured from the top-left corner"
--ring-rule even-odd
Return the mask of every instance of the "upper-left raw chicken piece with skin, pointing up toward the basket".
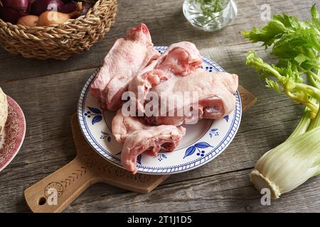
[[100, 102], [102, 109], [119, 109], [122, 94], [132, 78], [159, 57], [153, 46], [144, 23], [130, 29], [125, 38], [114, 43], [90, 86], [90, 94]]

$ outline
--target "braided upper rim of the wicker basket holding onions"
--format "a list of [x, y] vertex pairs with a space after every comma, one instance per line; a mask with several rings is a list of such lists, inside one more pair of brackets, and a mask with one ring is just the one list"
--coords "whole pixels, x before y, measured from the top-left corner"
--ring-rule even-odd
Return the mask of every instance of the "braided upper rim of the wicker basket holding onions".
[[[50, 26], [34, 26], [34, 27], [29, 27], [29, 26], [22, 26], [22, 25], [17, 25], [17, 24], [12, 24], [10, 22], [5, 22], [0, 18], [0, 27], [1, 27], [1, 23], [6, 24], [7, 28], [9, 29], [18, 29], [18, 30], [22, 30], [25, 33], [28, 33], [28, 31], [43, 31], [43, 30], [51, 30], [51, 29], [62, 29], [66, 28], [68, 25], [70, 24], [76, 24], [76, 23], [81, 23], [82, 21], [87, 22], [90, 20], [97, 20], [97, 15], [95, 15], [95, 12], [98, 11], [99, 9], [103, 9], [103, 7], [101, 6], [102, 3], [107, 3], [108, 1], [110, 2], [115, 2], [115, 4], [117, 4], [117, 0], [97, 0], [94, 4], [94, 6], [92, 6], [92, 8], [87, 12], [86, 15], [83, 16], [79, 16], [78, 18], [75, 19], [69, 19], [68, 21], [66, 21], [65, 23], [62, 24], [53, 24]], [[91, 12], [91, 13], [90, 13]], [[89, 14], [90, 13], [90, 14]]]

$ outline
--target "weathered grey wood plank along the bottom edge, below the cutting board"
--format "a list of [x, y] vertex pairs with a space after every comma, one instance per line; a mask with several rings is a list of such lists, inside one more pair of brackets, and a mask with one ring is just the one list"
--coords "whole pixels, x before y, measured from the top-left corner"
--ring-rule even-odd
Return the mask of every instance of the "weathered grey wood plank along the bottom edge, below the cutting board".
[[[320, 177], [309, 180], [299, 189], [272, 201], [272, 206], [260, 204], [257, 193], [248, 179], [250, 170], [202, 177], [190, 181], [164, 184], [153, 192], [104, 194], [109, 187], [96, 185], [95, 191], [85, 192], [65, 212], [294, 212], [320, 211]], [[306, 194], [309, 197], [306, 197]], [[314, 202], [309, 203], [309, 200]]]

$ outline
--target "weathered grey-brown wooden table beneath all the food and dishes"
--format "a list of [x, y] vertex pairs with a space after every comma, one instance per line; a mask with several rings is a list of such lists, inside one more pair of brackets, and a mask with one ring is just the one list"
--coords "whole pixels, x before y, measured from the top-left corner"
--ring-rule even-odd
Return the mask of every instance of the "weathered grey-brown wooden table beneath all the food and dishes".
[[27, 123], [20, 152], [0, 172], [0, 211], [28, 211], [24, 189], [73, 159], [75, 145], [70, 117], [76, 111], [82, 86], [102, 63], [114, 41], [139, 22], [149, 26], [155, 45], [181, 40], [195, 43], [203, 55], [228, 72], [237, 73], [240, 84], [255, 94], [258, 102], [242, 117], [233, 143], [209, 164], [172, 175], [149, 194], [96, 184], [65, 211], [320, 211], [320, 177], [309, 179], [294, 192], [272, 201], [272, 206], [260, 204], [260, 194], [250, 183], [249, 173], [255, 162], [288, 137], [302, 115], [302, 106], [294, 106], [286, 96], [267, 89], [256, 72], [245, 67], [247, 50], [270, 57], [259, 45], [252, 45], [240, 35], [240, 31], [264, 23], [260, 19], [261, 4], [269, 3], [272, 13], [285, 11], [306, 18], [314, 1], [239, 0], [238, 17], [217, 33], [193, 29], [183, 16], [182, 3], [119, 0], [119, 15], [105, 39], [67, 61], [28, 60], [0, 50], [0, 86], [21, 105]]

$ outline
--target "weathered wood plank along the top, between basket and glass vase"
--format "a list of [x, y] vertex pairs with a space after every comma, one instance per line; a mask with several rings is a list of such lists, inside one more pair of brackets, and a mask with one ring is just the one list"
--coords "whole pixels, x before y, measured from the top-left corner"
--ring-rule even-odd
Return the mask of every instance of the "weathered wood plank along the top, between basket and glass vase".
[[[82, 55], [72, 57], [68, 61], [30, 60], [10, 55], [0, 50], [0, 83], [48, 74], [85, 70], [98, 67], [114, 40], [122, 37], [127, 28], [144, 22], [149, 26], [155, 45], [169, 45], [181, 40], [189, 40], [198, 48], [206, 49], [220, 45], [243, 43], [245, 40], [240, 31], [260, 26], [260, 5], [269, 3], [272, 13], [287, 11], [300, 18], [309, 16], [309, 8], [314, 1], [245, 1], [238, 2], [238, 17], [228, 27], [217, 33], [198, 31], [188, 24], [182, 12], [180, 1], [144, 1], [119, 0], [119, 15], [116, 23], [106, 37]], [[173, 23], [174, 21], [174, 23]]]

